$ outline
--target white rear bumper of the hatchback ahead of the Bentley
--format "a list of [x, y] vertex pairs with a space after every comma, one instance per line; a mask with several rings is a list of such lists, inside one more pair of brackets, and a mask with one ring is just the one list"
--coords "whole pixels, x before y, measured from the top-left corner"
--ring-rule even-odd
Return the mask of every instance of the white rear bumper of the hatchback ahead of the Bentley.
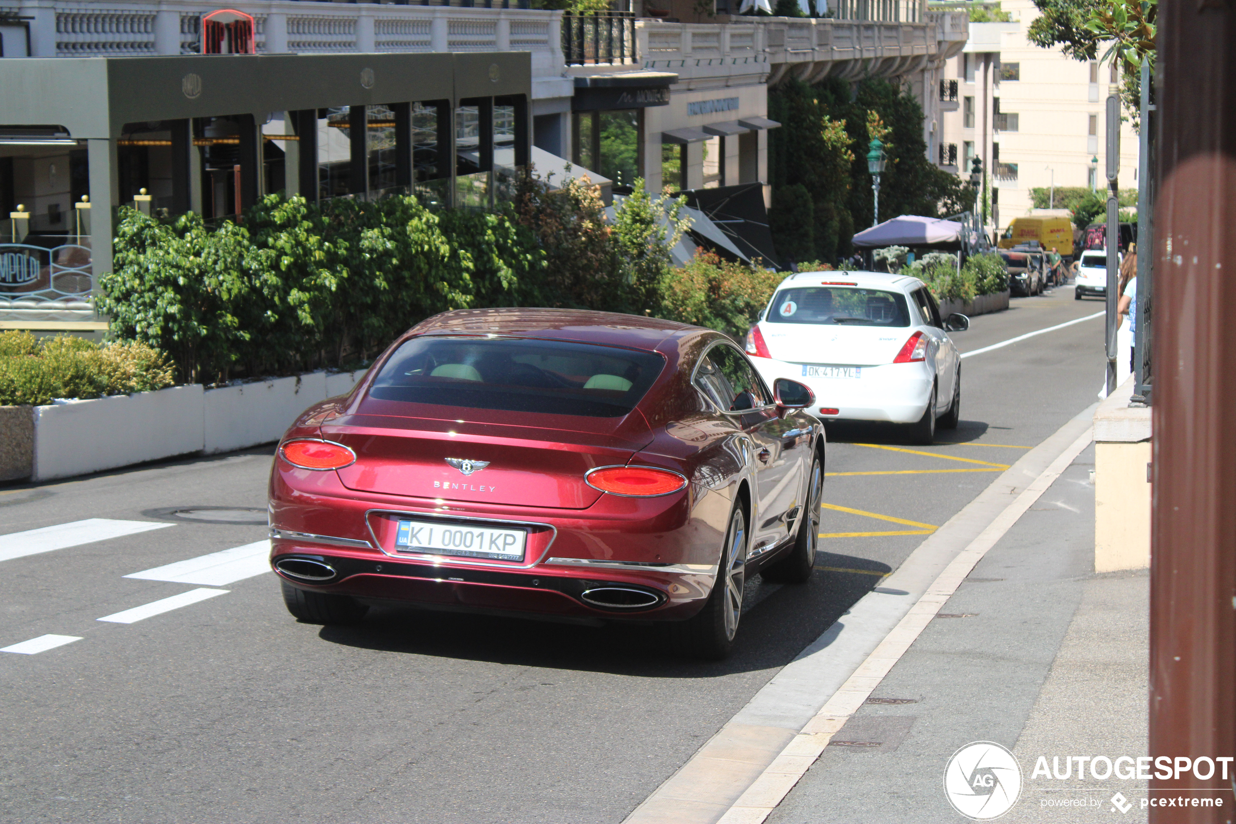
[[[931, 403], [934, 374], [925, 361], [864, 366], [859, 378], [805, 378], [802, 366], [775, 358], [751, 357], [764, 379], [805, 383], [816, 393], [807, 411], [828, 420], [870, 420], [892, 424], [917, 423]], [[824, 414], [823, 409], [836, 409]]]

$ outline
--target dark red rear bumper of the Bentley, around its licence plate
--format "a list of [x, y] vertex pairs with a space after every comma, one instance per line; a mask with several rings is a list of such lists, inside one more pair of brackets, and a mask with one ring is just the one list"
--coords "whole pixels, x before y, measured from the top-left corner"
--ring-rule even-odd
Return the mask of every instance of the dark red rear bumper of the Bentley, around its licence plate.
[[[700, 504], [693, 493], [684, 492], [651, 499], [602, 495], [586, 510], [442, 511], [433, 502], [417, 507], [410, 505], [419, 503], [414, 499], [355, 493], [334, 472], [309, 477], [277, 466], [271, 481], [271, 565], [299, 589], [361, 599], [548, 618], [682, 620], [697, 613], [712, 592], [722, 535], [711, 525], [708, 510], [724, 509], [724, 521], [729, 502], [721, 499], [707, 493]], [[534, 523], [552, 532], [529, 541], [523, 563], [404, 556], [378, 545], [379, 536], [366, 520], [372, 510], [421, 519], [466, 515]], [[308, 581], [279, 568], [295, 558], [325, 565], [332, 574]], [[630, 591], [627, 594], [640, 605], [606, 604], [604, 593], [592, 593], [590, 603], [590, 591], [611, 587]]]

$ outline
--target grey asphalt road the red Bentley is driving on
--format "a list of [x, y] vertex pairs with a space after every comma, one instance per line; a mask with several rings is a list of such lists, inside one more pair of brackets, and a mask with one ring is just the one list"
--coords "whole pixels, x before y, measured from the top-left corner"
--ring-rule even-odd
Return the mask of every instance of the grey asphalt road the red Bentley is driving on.
[[[974, 351], [1100, 310], [1065, 288], [954, 340]], [[0, 655], [0, 822], [620, 822], [880, 573], [1095, 400], [1101, 340], [1095, 319], [963, 361], [949, 444], [831, 427], [823, 531], [840, 536], [810, 584], [751, 582], [722, 663], [677, 660], [651, 630], [396, 609], [298, 624], [268, 572], [124, 577], [265, 539], [268, 448], [0, 489], [0, 647], [80, 639]], [[166, 514], [194, 507], [255, 511]], [[171, 525], [4, 553], [5, 534], [91, 518]], [[226, 592], [98, 620], [197, 589]]]

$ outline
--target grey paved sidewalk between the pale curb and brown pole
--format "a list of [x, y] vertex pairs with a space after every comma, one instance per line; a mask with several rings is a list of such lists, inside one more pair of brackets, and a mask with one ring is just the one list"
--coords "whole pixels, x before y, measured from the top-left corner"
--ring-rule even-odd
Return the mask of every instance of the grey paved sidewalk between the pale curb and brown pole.
[[[963, 822], [943, 775], [971, 741], [1001, 744], [1020, 762], [1021, 798], [1001, 822], [1146, 820], [1145, 781], [1033, 775], [1039, 756], [1063, 773], [1067, 756], [1147, 751], [1148, 576], [1091, 572], [1093, 466], [1091, 445], [978, 563], [769, 822]], [[1132, 805], [1117, 799], [1117, 792]]]

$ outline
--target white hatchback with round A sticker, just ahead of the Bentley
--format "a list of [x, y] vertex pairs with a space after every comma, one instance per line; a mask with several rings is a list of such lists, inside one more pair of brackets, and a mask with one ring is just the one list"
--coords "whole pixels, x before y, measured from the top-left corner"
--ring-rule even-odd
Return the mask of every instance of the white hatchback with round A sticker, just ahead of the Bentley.
[[[949, 315], [950, 329], [968, 329]], [[917, 278], [876, 272], [800, 272], [781, 282], [747, 334], [764, 379], [805, 383], [822, 420], [907, 424], [931, 444], [936, 420], [955, 429], [962, 361], [936, 299]]]

